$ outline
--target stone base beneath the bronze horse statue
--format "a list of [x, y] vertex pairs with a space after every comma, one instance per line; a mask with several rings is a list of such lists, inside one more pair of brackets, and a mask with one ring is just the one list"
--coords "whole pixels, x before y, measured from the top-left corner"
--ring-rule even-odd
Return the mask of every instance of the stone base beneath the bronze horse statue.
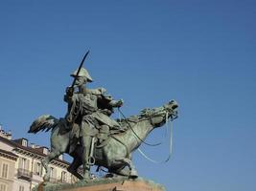
[[39, 184], [34, 191], [165, 191], [164, 186], [151, 180], [138, 178], [136, 180], [112, 178], [91, 180], [89, 182], [78, 181], [74, 184]]

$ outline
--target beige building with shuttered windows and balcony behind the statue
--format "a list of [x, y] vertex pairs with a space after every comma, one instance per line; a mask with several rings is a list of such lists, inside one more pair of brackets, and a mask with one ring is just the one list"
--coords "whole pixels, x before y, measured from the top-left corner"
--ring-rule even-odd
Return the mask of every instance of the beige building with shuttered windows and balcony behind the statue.
[[[45, 170], [41, 159], [49, 153], [44, 146], [29, 144], [28, 139], [12, 139], [12, 134], [0, 129], [0, 191], [31, 191], [43, 181]], [[52, 182], [76, 182], [67, 171], [69, 162], [60, 156], [50, 164]]]

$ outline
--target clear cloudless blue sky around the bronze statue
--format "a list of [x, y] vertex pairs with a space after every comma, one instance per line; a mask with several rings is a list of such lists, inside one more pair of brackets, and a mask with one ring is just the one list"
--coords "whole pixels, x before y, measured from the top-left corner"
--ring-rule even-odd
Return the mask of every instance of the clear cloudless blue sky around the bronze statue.
[[[123, 112], [175, 99], [174, 153], [139, 175], [175, 191], [256, 189], [256, 3], [227, 0], [23, 0], [0, 2], [0, 122], [14, 138], [42, 115], [63, 117], [69, 76], [85, 66]], [[164, 129], [149, 142], [158, 142]], [[143, 146], [166, 159], [167, 141]]]

